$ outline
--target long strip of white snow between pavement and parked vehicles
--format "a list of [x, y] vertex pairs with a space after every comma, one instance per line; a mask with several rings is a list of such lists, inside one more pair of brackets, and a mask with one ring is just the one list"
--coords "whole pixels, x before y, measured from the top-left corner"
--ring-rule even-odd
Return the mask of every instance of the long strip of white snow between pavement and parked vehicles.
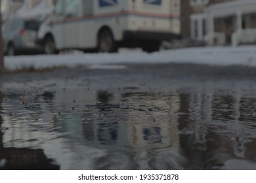
[[[109, 64], [120, 65], [117, 69], [125, 69], [124, 63], [196, 63], [207, 65], [244, 65], [256, 66], [256, 46], [238, 47], [203, 47], [162, 50], [148, 54], [138, 50], [119, 52], [117, 54], [68, 54], [39, 56], [5, 57], [5, 67], [10, 71], [24, 67], [44, 69], [49, 67], [76, 67], [85, 65], [91, 69], [113, 69]], [[109, 68], [108, 68], [109, 67]]]

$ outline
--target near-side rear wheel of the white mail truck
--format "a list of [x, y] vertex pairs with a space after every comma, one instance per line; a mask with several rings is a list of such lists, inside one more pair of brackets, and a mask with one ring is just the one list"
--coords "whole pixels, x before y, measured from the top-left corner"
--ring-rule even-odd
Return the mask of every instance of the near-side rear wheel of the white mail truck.
[[98, 35], [98, 51], [108, 53], [117, 52], [116, 42], [109, 29], [100, 31]]

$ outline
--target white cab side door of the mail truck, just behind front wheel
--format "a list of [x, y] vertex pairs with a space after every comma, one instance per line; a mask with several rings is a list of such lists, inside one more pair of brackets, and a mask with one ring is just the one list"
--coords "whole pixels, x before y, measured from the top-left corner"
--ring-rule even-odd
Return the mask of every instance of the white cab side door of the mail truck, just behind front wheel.
[[81, 0], [65, 0], [65, 48], [79, 48], [79, 16], [81, 17]]

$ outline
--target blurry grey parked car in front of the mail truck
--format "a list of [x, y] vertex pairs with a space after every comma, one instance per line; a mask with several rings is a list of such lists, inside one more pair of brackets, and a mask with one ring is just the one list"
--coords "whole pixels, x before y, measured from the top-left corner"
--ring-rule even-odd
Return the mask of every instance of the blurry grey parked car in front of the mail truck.
[[42, 52], [37, 44], [38, 20], [14, 19], [3, 24], [4, 52], [8, 56], [16, 54]]

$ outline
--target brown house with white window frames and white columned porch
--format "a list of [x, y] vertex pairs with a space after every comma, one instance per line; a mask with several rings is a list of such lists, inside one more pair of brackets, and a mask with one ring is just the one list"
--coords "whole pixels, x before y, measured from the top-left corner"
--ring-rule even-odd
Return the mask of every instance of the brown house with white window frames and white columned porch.
[[255, 0], [181, 1], [181, 33], [184, 39], [208, 45], [256, 42]]

